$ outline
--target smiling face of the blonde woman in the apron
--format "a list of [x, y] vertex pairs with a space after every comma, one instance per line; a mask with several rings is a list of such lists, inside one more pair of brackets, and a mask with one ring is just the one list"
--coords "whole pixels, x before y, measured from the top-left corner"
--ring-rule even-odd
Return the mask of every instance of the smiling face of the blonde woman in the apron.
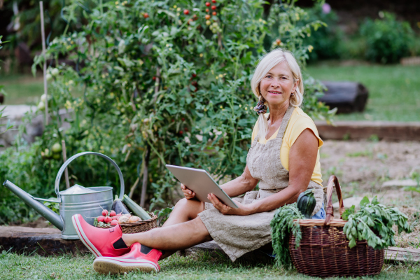
[[289, 102], [290, 94], [295, 92], [299, 80], [293, 83], [293, 74], [286, 61], [280, 62], [262, 78], [260, 93], [271, 106]]

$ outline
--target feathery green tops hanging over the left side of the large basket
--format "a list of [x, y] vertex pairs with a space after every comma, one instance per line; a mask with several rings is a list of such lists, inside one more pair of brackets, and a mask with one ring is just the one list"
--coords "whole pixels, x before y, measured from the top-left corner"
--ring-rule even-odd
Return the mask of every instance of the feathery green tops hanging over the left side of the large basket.
[[270, 225], [272, 227], [273, 250], [276, 254], [276, 266], [283, 266], [286, 269], [292, 267], [292, 259], [288, 249], [290, 232], [295, 236], [296, 248], [300, 245], [302, 232], [299, 222], [293, 220], [304, 219], [302, 213], [297, 209], [297, 204], [285, 205], [276, 210]]

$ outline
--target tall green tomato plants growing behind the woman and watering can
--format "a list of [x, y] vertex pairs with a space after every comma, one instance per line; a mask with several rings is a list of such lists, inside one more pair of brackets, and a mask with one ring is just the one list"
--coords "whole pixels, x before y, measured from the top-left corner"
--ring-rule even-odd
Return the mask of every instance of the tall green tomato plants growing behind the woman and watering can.
[[[54, 38], [47, 58], [66, 56], [76, 67], [50, 69], [50, 125], [32, 146], [19, 138], [16, 147], [0, 155], [0, 177], [34, 196], [53, 196], [62, 161], [42, 158], [41, 151], [64, 139], [69, 156], [82, 151], [111, 156], [126, 188], [143, 177], [148, 165], [151, 209], [173, 204], [176, 197], [177, 183], [165, 164], [207, 169], [219, 180], [235, 178], [246, 165], [257, 118], [250, 84], [258, 59], [281, 47], [304, 66], [312, 47], [303, 38], [323, 25], [318, 20], [300, 24], [308, 15], [295, 1], [273, 4], [266, 15], [263, 3], [221, 0], [207, 12], [205, 1], [104, 1], [90, 10], [70, 1], [66, 15], [83, 18], [68, 16], [69, 26], [83, 25]], [[38, 56], [33, 68], [42, 64]], [[304, 111], [330, 120], [333, 111], [316, 101], [321, 85], [305, 78]], [[70, 117], [61, 119], [64, 108]], [[118, 191], [116, 172], [100, 158], [80, 158], [69, 173], [72, 183]], [[139, 201], [140, 188], [134, 200]], [[0, 193], [0, 200], [6, 203], [0, 208], [2, 223], [32, 215], [8, 191]]]

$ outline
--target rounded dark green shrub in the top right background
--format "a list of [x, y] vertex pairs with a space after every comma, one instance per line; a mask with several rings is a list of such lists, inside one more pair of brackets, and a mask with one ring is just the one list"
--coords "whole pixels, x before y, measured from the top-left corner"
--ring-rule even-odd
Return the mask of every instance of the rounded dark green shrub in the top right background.
[[409, 55], [409, 45], [414, 39], [408, 22], [400, 22], [395, 15], [384, 13], [383, 19], [367, 19], [360, 26], [366, 40], [365, 57], [372, 62], [395, 63]]

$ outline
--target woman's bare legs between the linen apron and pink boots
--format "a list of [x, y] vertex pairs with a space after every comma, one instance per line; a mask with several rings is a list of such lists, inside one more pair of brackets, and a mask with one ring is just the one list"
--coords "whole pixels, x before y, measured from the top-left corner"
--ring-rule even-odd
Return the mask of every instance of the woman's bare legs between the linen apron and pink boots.
[[204, 202], [180, 200], [162, 228], [148, 232], [125, 234], [123, 240], [127, 246], [135, 242], [151, 248], [165, 251], [160, 259], [167, 258], [178, 250], [189, 248], [211, 237], [198, 214], [204, 210]]

